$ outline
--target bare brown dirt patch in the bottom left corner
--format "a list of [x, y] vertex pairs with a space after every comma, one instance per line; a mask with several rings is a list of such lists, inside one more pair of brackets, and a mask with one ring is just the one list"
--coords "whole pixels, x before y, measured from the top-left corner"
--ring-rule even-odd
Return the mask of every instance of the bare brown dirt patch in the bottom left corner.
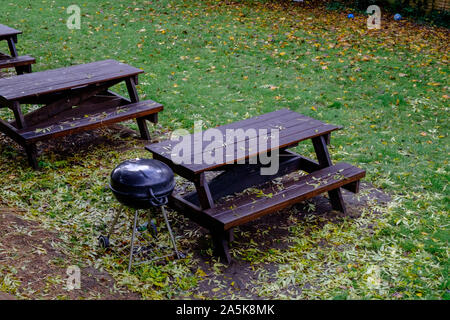
[[[81, 289], [67, 290], [67, 267], [75, 264], [58, 250], [54, 232], [25, 220], [20, 211], [0, 208], [0, 299], [138, 299], [116, 288], [106, 272], [81, 268]], [[12, 293], [12, 294], [11, 294]]]

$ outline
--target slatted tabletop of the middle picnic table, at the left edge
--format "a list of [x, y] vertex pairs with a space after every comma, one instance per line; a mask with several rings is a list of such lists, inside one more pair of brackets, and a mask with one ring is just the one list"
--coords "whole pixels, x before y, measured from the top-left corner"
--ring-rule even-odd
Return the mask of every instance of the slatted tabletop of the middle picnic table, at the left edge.
[[0, 97], [9, 101], [19, 100], [132, 77], [143, 72], [115, 60], [97, 61], [0, 79]]

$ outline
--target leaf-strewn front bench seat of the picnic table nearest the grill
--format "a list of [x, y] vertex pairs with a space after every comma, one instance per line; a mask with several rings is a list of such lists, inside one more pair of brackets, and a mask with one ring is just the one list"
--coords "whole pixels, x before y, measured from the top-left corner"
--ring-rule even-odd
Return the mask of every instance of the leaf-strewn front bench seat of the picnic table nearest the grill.
[[273, 184], [257, 194], [233, 197], [229, 201], [203, 212], [219, 221], [224, 230], [252, 221], [262, 215], [279, 211], [294, 203], [358, 181], [365, 171], [348, 163], [338, 163], [298, 180]]

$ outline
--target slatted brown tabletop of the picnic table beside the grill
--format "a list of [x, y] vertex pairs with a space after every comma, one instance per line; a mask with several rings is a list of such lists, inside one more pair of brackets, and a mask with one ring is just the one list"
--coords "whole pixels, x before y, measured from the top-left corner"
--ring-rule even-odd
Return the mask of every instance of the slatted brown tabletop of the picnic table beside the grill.
[[[223, 141], [226, 141], [227, 129], [255, 129], [257, 136], [248, 137], [245, 135], [240, 135], [238, 138], [234, 139], [234, 142], [231, 144], [224, 144], [212, 150], [205, 150], [205, 147], [210, 145], [211, 141], [202, 141], [203, 139], [199, 134], [189, 135], [187, 137], [189, 137], [191, 141], [190, 163], [182, 163], [179, 164], [180, 166], [192, 173], [197, 174], [203, 171], [220, 168], [221, 166], [224, 166], [226, 164], [235, 163], [236, 161], [241, 159], [248, 159], [270, 150], [293, 146], [300, 141], [330, 133], [334, 130], [341, 129], [341, 127], [326, 124], [322, 121], [304, 116], [300, 113], [290, 111], [288, 109], [282, 109], [254, 118], [249, 118], [228, 125], [220, 126], [214, 129], [218, 129], [221, 131]], [[259, 146], [257, 150], [252, 150], [252, 144], [257, 143], [259, 139], [259, 129], [267, 129], [266, 143], [263, 143], [263, 146]], [[278, 144], [272, 143], [273, 139], [270, 131], [273, 129], [279, 130]], [[203, 136], [205, 136], [205, 134], [208, 134], [209, 130], [211, 129], [204, 131]], [[165, 159], [172, 161], [173, 148], [178, 143], [179, 141], [166, 140], [161, 143], [148, 145], [146, 148], [150, 152], [158, 154]], [[194, 146], [194, 144], [197, 145]], [[242, 147], [244, 147], [244, 150], [242, 150]], [[201, 159], [205, 159], [205, 155], [214, 157], [215, 154], [221, 154], [223, 156], [221, 157], [221, 161], [217, 161], [213, 164], [205, 163], [205, 161], [203, 161], [202, 163], [196, 163], [196, 161], [194, 160], [196, 158], [200, 158], [200, 153], [202, 156]]]

